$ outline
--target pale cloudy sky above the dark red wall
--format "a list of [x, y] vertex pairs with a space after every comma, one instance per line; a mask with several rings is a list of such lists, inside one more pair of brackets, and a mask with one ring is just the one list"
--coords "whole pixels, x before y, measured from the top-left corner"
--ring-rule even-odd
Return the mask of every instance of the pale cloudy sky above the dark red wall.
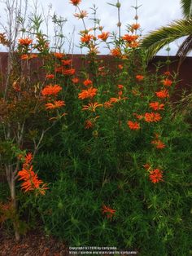
[[[12, 1], [12, 0], [9, 0]], [[103, 31], [117, 31], [117, 8], [108, 5], [107, 2], [116, 4], [116, 0], [82, 0], [80, 7], [81, 10], [85, 10], [89, 15], [93, 12], [90, 7], [93, 7], [95, 4], [98, 7], [97, 16], [101, 20], [100, 24], [104, 26]], [[133, 24], [135, 20], [133, 17], [135, 11], [132, 6], [135, 6], [136, 0], [120, 0], [120, 21], [122, 23], [121, 29], [122, 34], [126, 33], [126, 25]], [[166, 4], [164, 4], [166, 2]], [[139, 24], [142, 26], [142, 35], [146, 35], [154, 29], [158, 29], [161, 26], [170, 24], [173, 20], [181, 19], [181, 6], [180, 0], [137, 0], [138, 17]], [[1, 7], [2, 3], [0, 3]], [[33, 6], [33, 0], [28, 0], [28, 6]], [[43, 8], [46, 18], [48, 17], [48, 9], [50, 8], [49, 15], [56, 13], [57, 15], [63, 16], [68, 21], [64, 24], [63, 33], [68, 38], [65, 42], [65, 51], [69, 51], [69, 42], [70, 38], [74, 42], [74, 47], [72, 49], [73, 53], [81, 53], [81, 50], [78, 48], [79, 42], [79, 31], [83, 30], [83, 24], [81, 20], [74, 17], [74, 13], [78, 12], [76, 7], [69, 3], [69, 0], [38, 0], [37, 10], [41, 13]], [[1, 8], [2, 10], [2, 8]], [[5, 19], [5, 18], [4, 18]], [[3, 22], [3, 14], [0, 16], [1, 22]], [[85, 24], [87, 28], [93, 27], [93, 20], [85, 18]], [[1, 26], [0, 26], [1, 29]], [[48, 33], [50, 37], [53, 35], [53, 24], [49, 24]], [[177, 52], [178, 46], [181, 45], [181, 41], [173, 42], [170, 44], [170, 55], [175, 55]], [[104, 45], [103, 45], [104, 46]], [[0, 48], [1, 50], [1, 48]], [[102, 47], [100, 49], [101, 54], [107, 54], [107, 50]], [[167, 51], [161, 50], [158, 55], [167, 55]]]

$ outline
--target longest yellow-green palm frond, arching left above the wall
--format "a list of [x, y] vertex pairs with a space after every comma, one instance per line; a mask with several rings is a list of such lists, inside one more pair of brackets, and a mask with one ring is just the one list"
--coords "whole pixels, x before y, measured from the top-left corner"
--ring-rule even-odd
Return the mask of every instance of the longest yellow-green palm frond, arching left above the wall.
[[176, 20], [168, 26], [152, 31], [142, 39], [141, 46], [146, 49], [146, 58], [150, 60], [168, 43], [192, 35], [192, 19]]

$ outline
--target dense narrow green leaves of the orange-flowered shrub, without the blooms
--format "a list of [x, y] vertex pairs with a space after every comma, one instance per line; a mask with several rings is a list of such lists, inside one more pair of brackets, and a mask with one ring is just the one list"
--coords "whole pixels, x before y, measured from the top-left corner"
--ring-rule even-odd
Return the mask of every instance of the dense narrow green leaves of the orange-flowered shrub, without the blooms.
[[[132, 72], [129, 79], [124, 70], [108, 77], [107, 82], [97, 77], [98, 103], [117, 98], [119, 84], [124, 86], [122, 97], [129, 99], [91, 113], [81, 110], [84, 103], [76, 101], [78, 91], [74, 99], [66, 95], [66, 102], [71, 106], [74, 100], [75, 106], [61, 125], [57, 147], [52, 152], [43, 148], [36, 158], [40, 169], [46, 170], [43, 175], [49, 181], [52, 177], [50, 190], [38, 201], [38, 211], [46, 234], [69, 246], [133, 248], [147, 256], [187, 255], [191, 229], [190, 126], [181, 112], [173, 115], [168, 99], [161, 99], [165, 104], [159, 111], [162, 120], [141, 119], [140, 130], [129, 129], [127, 121], [137, 121], [134, 113], [151, 113], [149, 103], [160, 100], [155, 98], [155, 91], [163, 88], [166, 78], [144, 69], [140, 71], [144, 79], [138, 82], [134, 56], [124, 61], [124, 70]], [[144, 57], [142, 53], [141, 60]], [[177, 81], [174, 76], [169, 79], [173, 81], [171, 94]], [[137, 90], [136, 95], [133, 90]], [[85, 120], [97, 115], [94, 127], [85, 129]], [[155, 133], [165, 148], [151, 144]], [[151, 183], [143, 167], [146, 163], [163, 170], [163, 181]], [[51, 176], [54, 166], [57, 171]], [[107, 218], [103, 205], [116, 214]]]

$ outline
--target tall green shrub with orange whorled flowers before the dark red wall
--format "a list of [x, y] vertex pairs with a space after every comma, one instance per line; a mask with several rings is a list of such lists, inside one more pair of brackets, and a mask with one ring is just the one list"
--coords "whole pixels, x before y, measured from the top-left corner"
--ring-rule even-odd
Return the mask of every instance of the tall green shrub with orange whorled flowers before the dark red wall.
[[[9, 90], [14, 97], [1, 99], [6, 127], [17, 127], [18, 120], [20, 127], [28, 124], [24, 139], [12, 131], [14, 143], [3, 141], [1, 150], [6, 155], [10, 148], [21, 188], [43, 195], [36, 198], [37, 210], [47, 235], [69, 246], [185, 255], [190, 251], [191, 137], [182, 115], [172, 113], [177, 77], [147, 72], [137, 14], [126, 34], [114, 35], [100, 24], [86, 29], [81, 1], [70, 2], [85, 27], [80, 38], [88, 50], [85, 67], [76, 73], [68, 55], [51, 52], [48, 42], [40, 47], [20, 39], [22, 63], [32, 61], [28, 51], [38, 49], [46, 63], [45, 81], [26, 87], [17, 77]], [[113, 70], [98, 58], [100, 41], [114, 57]], [[28, 108], [21, 112], [24, 103]]]

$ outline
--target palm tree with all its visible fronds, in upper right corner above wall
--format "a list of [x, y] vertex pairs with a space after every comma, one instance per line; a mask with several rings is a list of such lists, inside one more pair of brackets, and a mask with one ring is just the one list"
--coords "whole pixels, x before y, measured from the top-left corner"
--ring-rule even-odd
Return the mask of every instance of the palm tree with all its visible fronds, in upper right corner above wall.
[[186, 37], [177, 51], [181, 61], [192, 50], [192, 0], [181, 0], [183, 19], [173, 21], [168, 26], [152, 31], [142, 39], [142, 47], [146, 49], [146, 59], [151, 58], [168, 43]]

